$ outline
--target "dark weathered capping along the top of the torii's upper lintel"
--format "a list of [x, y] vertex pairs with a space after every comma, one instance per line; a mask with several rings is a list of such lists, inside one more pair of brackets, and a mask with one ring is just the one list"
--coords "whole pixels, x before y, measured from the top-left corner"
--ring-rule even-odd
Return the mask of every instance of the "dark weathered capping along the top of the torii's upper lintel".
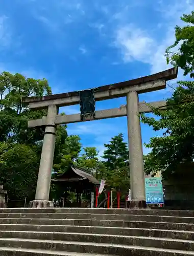
[[[135, 86], [141, 83], [151, 82], [157, 79], [163, 79], [165, 81], [174, 79], [177, 77], [178, 74], [178, 68], [171, 68], [168, 70], [164, 70], [159, 73], [155, 73], [149, 76], [143, 76], [132, 80], [127, 80], [124, 82], [117, 82], [113, 84], [108, 84], [106, 86], [101, 86], [95, 88], [95, 92], [104, 92], [112, 89], [123, 89], [128, 86]], [[90, 89], [88, 89], [90, 90]], [[42, 97], [23, 97], [23, 102], [37, 102], [37, 101], [45, 101], [45, 100], [55, 100], [55, 99], [61, 99], [61, 98], [67, 98], [67, 97], [74, 97], [79, 96], [80, 91], [74, 91], [74, 92], [67, 92], [67, 93], [60, 93], [60, 94], [53, 94], [53, 95], [46, 95]]]

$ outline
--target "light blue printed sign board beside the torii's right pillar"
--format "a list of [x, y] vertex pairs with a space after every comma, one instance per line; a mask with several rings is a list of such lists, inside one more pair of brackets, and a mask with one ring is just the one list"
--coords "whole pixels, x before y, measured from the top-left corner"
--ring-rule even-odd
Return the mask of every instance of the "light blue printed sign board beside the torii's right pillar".
[[146, 203], [163, 204], [163, 187], [161, 178], [145, 178]]

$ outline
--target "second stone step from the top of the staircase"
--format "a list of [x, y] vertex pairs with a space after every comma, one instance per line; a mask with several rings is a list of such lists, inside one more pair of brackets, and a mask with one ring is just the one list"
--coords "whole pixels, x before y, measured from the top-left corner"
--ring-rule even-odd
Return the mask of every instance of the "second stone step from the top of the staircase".
[[[155, 215], [101, 215], [101, 214], [0, 214], [1, 219], [70, 219], [70, 220], [126, 220], [126, 221], [147, 221], [147, 222], [177, 222], [193, 223], [194, 217], [177, 216], [155, 216]], [[0, 222], [1, 223], [1, 222]]]

